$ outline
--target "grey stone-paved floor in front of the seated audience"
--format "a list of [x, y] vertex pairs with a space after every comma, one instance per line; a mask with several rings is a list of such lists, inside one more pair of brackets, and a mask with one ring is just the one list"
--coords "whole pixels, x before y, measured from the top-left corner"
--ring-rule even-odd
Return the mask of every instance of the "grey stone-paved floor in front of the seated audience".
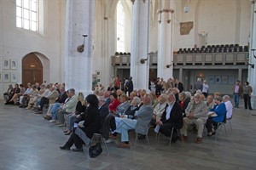
[[[163, 138], [155, 142], [150, 129], [149, 148], [146, 141], [139, 141], [136, 150], [119, 149], [110, 143], [109, 155], [103, 147], [100, 156], [89, 158], [85, 153], [59, 149], [68, 138], [63, 128], [33, 111], [3, 105], [1, 101], [0, 169], [256, 169], [256, 111], [235, 109], [231, 123], [233, 130], [227, 124], [228, 137], [222, 130], [217, 143], [214, 138], [205, 138], [202, 144], [195, 144], [195, 134], [190, 132], [184, 144], [177, 141], [168, 146]], [[130, 136], [133, 145], [135, 135]]]

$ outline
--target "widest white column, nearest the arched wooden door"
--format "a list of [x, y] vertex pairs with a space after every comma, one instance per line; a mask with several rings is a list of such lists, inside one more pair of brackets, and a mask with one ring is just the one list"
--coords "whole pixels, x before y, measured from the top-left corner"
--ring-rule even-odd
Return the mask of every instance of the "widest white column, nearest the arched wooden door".
[[[92, 87], [94, 8], [94, 0], [67, 0], [65, 82], [85, 96]], [[85, 41], [83, 35], [88, 35]], [[83, 41], [84, 52], [79, 53]]]

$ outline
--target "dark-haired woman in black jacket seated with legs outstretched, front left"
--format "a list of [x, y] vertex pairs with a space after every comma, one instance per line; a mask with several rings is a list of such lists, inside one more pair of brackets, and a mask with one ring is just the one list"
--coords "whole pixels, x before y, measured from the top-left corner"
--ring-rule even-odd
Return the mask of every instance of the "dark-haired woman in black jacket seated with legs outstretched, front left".
[[73, 151], [83, 151], [83, 142], [89, 144], [93, 134], [99, 133], [101, 128], [101, 115], [98, 110], [99, 100], [95, 94], [89, 94], [86, 97], [86, 102], [88, 107], [84, 113], [83, 126], [74, 129], [66, 144], [60, 146], [61, 150], [70, 150], [70, 147], [75, 144], [76, 148]]

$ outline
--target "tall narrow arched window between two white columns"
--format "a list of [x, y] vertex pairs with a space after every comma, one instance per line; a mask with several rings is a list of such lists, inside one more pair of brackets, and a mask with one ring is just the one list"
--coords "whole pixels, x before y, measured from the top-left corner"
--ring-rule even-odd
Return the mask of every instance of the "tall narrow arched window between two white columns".
[[117, 4], [116, 15], [116, 49], [118, 52], [125, 52], [125, 11], [120, 1]]

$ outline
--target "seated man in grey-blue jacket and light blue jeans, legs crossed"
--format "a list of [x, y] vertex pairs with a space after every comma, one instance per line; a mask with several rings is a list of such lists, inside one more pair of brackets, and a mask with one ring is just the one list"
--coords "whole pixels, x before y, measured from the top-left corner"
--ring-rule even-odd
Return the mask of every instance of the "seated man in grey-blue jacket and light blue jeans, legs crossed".
[[146, 134], [148, 123], [153, 116], [153, 107], [151, 105], [151, 97], [149, 94], [143, 96], [143, 106], [139, 111], [135, 112], [135, 119], [124, 118], [120, 123], [119, 127], [110, 136], [111, 139], [116, 139], [117, 133], [121, 133], [121, 141], [123, 144], [119, 144], [119, 148], [130, 148], [128, 130], [135, 129], [136, 133]]

